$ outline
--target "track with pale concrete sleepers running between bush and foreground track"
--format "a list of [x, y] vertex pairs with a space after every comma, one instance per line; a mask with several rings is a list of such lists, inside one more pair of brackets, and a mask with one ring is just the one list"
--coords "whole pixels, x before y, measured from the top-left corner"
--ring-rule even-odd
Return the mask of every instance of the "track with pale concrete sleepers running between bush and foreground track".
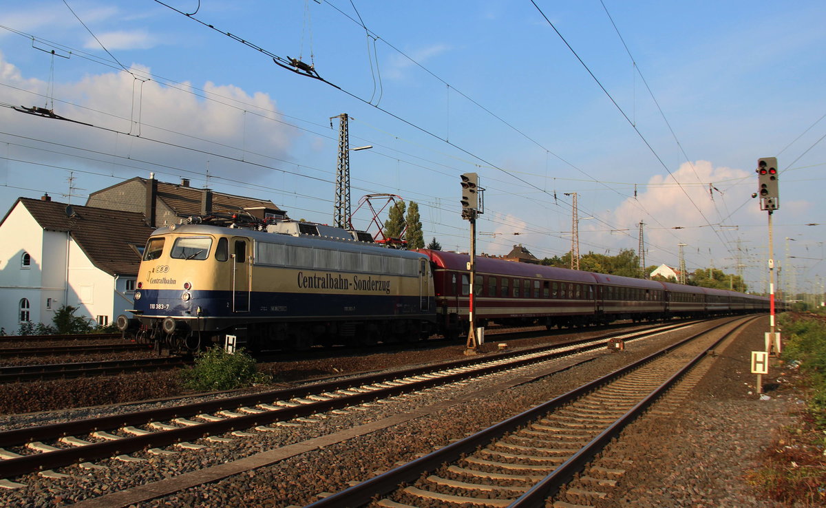
[[[660, 325], [652, 330], [623, 335], [623, 338], [626, 341], [641, 339], [684, 326], [687, 325]], [[228, 438], [218, 436], [230, 433], [243, 437], [255, 432], [270, 432], [278, 430], [280, 425], [297, 425], [289, 420], [310, 420], [316, 414], [335, 414], [335, 411], [379, 399], [501, 373], [590, 349], [604, 349], [605, 341], [616, 335], [287, 390], [7, 430], [0, 432], [0, 458], [3, 458], [0, 460], [0, 478], [4, 478], [0, 487], [15, 488], [17, 482], [9, 478], [27, 472], [40, 470], [46, 473], [72, 463], [81, 463], [83, 468], [96, 468], [99, 466], [89, 461], [116, 457], [132, 462], [144, 460], [129, 455], [140, 450], [169, 453], [161, 448], [169, 445], [178, 449], [199, 449], [205, 445], [194, 444], [193, 440], [206, 437], [207, 441], [225, 441]]]

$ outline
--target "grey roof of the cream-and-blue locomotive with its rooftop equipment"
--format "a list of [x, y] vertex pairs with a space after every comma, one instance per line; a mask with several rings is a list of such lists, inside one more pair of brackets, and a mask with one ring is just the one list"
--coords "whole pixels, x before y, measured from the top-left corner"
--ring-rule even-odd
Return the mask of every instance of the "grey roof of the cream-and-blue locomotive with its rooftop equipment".
[[330, 236], [316, 235], [285, 235], [283, 233], [268, 233], [267, 231], [249, 230], [243, 228], [229, 228], [223, 226], [210, 226], [206, 224], [177, 224], [166, 226], [155, 230], [152, 235], [165, 235], [169, 233], [186, 233], [190, 235], [231, 235], [243, 236], [259, 242], [275, 244], [300, 245], [308, 248], [334, 249], [359, 254], [377, 254], [394, 258], [422, 258], [422, 254], [411, 250], [387, 249], [368, 242], [358, 240], [344, 240]]

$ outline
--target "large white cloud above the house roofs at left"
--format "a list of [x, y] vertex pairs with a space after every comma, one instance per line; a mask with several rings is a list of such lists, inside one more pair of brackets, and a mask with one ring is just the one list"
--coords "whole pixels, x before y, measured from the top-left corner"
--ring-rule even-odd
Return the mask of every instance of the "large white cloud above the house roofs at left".
[[[150, 69], [138, 66], [134, 71], [139, 75], [150, 73]], [[48, 83], [26, 78], [2, 54], [0, 76], [3, 83], [21, 89], [6, 88], [3, 102], [52, 107], [45, 97]], [[278, 166], [281, 163], [271, 158], [287, 158], [297, 136], [291, 127], [272, 121], [280, 118], [272, 97], [265, 93], [249, 93], [231, 84], [206, 83], [203, 91], [196, 95], [188, 93], [195, 92], [190, 83], [183, 83], [180, 89], [171, 88], [155, 81], [141, 83], [131, 74], [113, 71], [88, 75], [74, 83], [55, 83], [54, 87], [56, 114], [103, 129], [24, 115], [6, 108], [0, 111], [0, 123], [13, 125], [12, 132], [34, 140], [27, 141], [27, 145], [40, 145], [63, 153], [74, 152], [71, 147], [83, 148], [97, 154], [77, 153], [112, 162], [91, 163], [40, 151], [29, 154], [30, 159], [44, 164], [59, 163], [61, 167], [90, 164], [98, 171], [103, 168], [106, 173], [126, 178], [135, 176], [135, 173], [145, 176], [140, 169], [123, 167], [136, 163], [110, 155], [118, 154], [135, 161], [171, 166], [169, 175], [159, 175], [167, 181], [175, 181], [178, 175], [192, 178], [185, 172], [204, 173], [207, 166], [212, 177], [254, 181], [272, 175], [273, 171], [231, 159]], [[202, 95], [215, 100], [206, 100], [200, 97]], [[107, 130], [130, 133], [131, 136]], [[102, 186], [86, 183], [84, 187], [93, 190]]]

